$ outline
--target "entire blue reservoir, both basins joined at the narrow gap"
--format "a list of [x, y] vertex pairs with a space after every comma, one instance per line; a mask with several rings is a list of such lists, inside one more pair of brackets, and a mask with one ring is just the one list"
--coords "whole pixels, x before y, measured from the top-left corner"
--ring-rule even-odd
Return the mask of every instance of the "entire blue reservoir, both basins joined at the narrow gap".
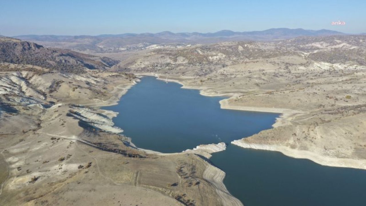
[[365, 205], [366, 170], [321, 166], [280, 152], [231, 145], [272, 128], [279, 114], [220, 109], [223, 97], [143, 77], [121, 98], [116, 126], [139, 148], [180, 152], [199, 144], [225, 142], [210, 161], [224, 170], [224, 184], [245, 206]]

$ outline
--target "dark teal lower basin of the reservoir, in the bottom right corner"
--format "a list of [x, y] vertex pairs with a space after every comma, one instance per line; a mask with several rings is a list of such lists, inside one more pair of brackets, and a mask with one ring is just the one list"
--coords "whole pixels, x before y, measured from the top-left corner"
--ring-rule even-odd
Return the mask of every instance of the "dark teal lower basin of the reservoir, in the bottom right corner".
[[[364, 206], [366, 171], [228, 145], [210, 159], [245, 206]], [[235, 161], [234, 161], [235, 160]]]

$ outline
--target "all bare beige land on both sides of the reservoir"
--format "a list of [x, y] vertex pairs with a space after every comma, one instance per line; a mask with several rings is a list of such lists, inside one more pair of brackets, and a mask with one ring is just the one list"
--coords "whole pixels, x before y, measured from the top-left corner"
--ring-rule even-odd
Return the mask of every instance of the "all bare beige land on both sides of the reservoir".
[[223, 109], [281, 114], [233, 144], [366, 169], [365, 35], [89, 53], [121, 62], [82, 74], [1, 63], [0, 205], [242, 205], [197, 155], [222, 145], [159, 154], [116, 135], [116, 113], [100, 107], [135, 75], [227, 96]]

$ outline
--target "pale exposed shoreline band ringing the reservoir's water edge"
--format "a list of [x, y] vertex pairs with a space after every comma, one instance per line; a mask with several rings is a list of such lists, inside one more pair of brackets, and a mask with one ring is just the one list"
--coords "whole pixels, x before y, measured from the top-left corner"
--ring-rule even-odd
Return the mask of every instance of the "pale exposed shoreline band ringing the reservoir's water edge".
[[[227, 99], [221, 100], [220, 108], [221, 109], [231, 109], [231, 110], [242, 110], [242, 111], [255, 111], [255, 112], [268, 112], [268, 113], [278, 113], [280, 116], [276, 118], [275, 124], [272, 125], [273, 128], [279, 127], [279, 126], [285, 126], [291, 124], [291, 120], [298, 114], [304, 114], [306, 112], [304, 111], [297, 111], [297, 110], [291, 110], [286, 108], [268, 108], [268, 107], [247, 107], [247, 106], [233, 106], [229, 104], [230, 98], [235, 98], [238, 93], [215, 93], [215, 92], [208, 92], [210, 88], [205, 87], [189, 87], [187, 85], [184, 85], [182, 83], [182, 80], [177, 79], [164, 79], [161, 78], [162, 75], [155, 74], [155, 73], [137, 73], [135, 74], [138, 78], [141, 78], [141, 76], [154, 76], [157, 77], [158, 80], [162, 81], [169, 81], [169, 82], [176, 82], [180, 85], [182, 85], [183, 89], [198, 89], [199, 93], [203, 96], [227, 96]], [[173, 77], [174, 78], [174, 77]], [[190, 77], [187, 77], [186, 79], [191, 79]], [[111, 99], [105, 101], [108, 102], [108, 105], [96, 105], [99, 107], [103, 106], [110, 106], [115, 105], [119, 102], [120, 98], [130, 89], [133, 85], [137, 84], [137, 82], [134, 81], [134, 83], [128, 87], [120, 88], [120, 85], [117, 86], [111, 93], [119, 93], [118, 95], [113, 96]], [[118, 92], [120, 90], [120, 92]], [[278, 151], [282, 154], [291, 157], [291, 158], [302, 158], [302, 159], [309, 159], [310, 161], [313, 161], [314, 163], [318, 163], [323, 166], [333, 166], [333, 167], [345, 167], [345, 168], [356, 168], [356, 169], [366, 169], [366, 162], [360, 163], [359, 161], [355, 159], [340, 159], [340, 158], [326, 158], [322, 155], [317, 155], [314, 152], [310, 151], [300, 151], [300, 150], [294, 150], [285, 146], [271, 146], [271, 145], [260, 145], [260, 144], [245, 144], [242, 142], [242, 139], [232, 141], [231, 144], [235, 144], [237, 146], [243, 147], [243, 148], [252, 148], [252, 149], [259, 149], [259, 150], [270, 150], [270, 151]], [[134, 147], [134, 144], [131, 142], [131, 146]], [[158, 155], [177, 155], [182, 154], [186, 151], [177, 152], [177, 153], [171, 153], [171, 154], [165, 154], [157, 151], [152, 150], [146, 150], [142, 148], [135, 147], [139, 150], [143, 150], [147, 153], [154, 153]], [[222, 151], [222, 150], [221, 150]], [[192, 153], [199, 153], [199, 151], [191, 149], [189, 152]], [[211, 152], [207, 152], [210, 154]], [[210, 158], [210, 157], [208, 157]], [[217, 195], [219, 195], [223, 205], [243, 205], [237, 198], [232, 196], [227, 188], [225, 187], [223, 180], [225, 178], [226, 173], [216, 168], [215, 166], [208, 163], [208, 166], [206, 166], [204, 172], [203, 172], [203, 178], [207, 181], [209, 181], [211, 184], [214, 185], [214, 188], [217, 192]]]

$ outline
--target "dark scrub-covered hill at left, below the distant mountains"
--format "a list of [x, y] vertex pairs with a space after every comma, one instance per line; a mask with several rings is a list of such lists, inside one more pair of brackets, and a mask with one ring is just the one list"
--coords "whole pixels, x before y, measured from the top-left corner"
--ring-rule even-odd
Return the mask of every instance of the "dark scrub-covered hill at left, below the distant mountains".
[[45, 48], [16, 38], [0, 37], [0, 62], [28, 64], [68, 72], [106, 69], [119, 61], [68, 49]]

